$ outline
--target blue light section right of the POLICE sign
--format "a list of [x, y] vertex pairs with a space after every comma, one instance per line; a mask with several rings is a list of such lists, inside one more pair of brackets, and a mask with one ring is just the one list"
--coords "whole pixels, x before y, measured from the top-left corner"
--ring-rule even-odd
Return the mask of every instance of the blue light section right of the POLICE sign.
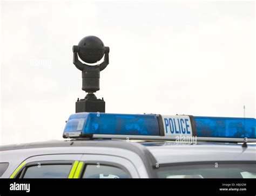
[[194, 116], [198, 137], [256, 138], [255, 118]]

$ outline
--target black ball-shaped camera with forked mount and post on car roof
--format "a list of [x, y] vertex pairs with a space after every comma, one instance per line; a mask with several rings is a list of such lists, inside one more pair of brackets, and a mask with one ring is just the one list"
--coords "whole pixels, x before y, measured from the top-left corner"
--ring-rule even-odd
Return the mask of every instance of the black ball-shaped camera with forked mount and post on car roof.
[[[99, 90], [99, 75], [103, 69], [109, 65], [109, 47], [105, 47], [102, 40], [95, 36], [86, 36], [79, 41], [77, 46], [73, 46], [73, 64], [82, 71], [82, 90], [87, 95], [84, 99], [76, 102], [76, 113], [80, 112], [101, 112], [105, 113], [105, 101], [97, 99], [94, 94]], [[95, 64], [104, 56], [104, 61], [99, 65]]]

